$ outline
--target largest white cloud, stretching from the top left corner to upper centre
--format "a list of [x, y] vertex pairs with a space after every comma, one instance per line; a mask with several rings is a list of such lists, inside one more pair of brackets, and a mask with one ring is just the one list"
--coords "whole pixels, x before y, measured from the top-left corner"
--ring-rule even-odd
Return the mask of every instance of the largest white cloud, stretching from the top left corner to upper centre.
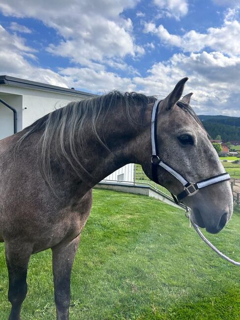
[[[51, 44], [53, 55], [68, 57], [72, 62], [94, 66], [127, 55], [144, 54], [144, 48], [135, 43], [132, 22], [120, 14], [132, 8], [138, 0], [8, 0], [0, 2], [5, 15], [32, 17], [54, 28], [62, 37], [58, 44]], [[57, 14], [56, 14], [57, 8]], [[99, 66], [98, 66], [99, 67]]]

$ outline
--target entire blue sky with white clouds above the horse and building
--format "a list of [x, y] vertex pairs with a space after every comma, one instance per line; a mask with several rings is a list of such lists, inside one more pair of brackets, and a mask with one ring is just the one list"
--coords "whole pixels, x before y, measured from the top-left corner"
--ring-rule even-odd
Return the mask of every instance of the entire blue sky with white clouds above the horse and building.
[[0, 75], [240, 116], [240, 0], [0, 0]]

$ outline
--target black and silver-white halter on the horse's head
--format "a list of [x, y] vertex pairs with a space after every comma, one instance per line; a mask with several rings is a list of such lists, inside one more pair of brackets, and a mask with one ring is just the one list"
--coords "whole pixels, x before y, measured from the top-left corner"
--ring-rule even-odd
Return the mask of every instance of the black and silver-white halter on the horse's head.
[[183, 191], [180, 192], [177, 196], [172, 193], [173, 199], [176, 203], [180, 203], [182, 199], [184, 199], [187, 196], [191, 196], [196, 194], [199, 189], [203, 189], [205, 187], [208, 187], [210, 185], [214, 185], [219, 182], [230, 180], [230, 175], [225, 172], [219, 175], [216, 175], [214, 177], [201, 180], [199, 182], [188, 182], [185, 180], [180, 173], [178, 173], [176, 170], [171, 168], [169, 165], [167, 165], [165, 162], [160, 160], [160, 157], [158, 156], [158, 150], [157, 150], [157, 114], [158, 114], [158, 106], [162, 100], [157, 100], [153, 107], [151, 112], [151, 173], [152, 173], [152, 180], [159, 184], [158, 178], [157, 178], [157, 168], [158, 166], [164, 168], [169, 173], [171, 173], [176, 179], [180, 181], [180, 183], [183, 185]]

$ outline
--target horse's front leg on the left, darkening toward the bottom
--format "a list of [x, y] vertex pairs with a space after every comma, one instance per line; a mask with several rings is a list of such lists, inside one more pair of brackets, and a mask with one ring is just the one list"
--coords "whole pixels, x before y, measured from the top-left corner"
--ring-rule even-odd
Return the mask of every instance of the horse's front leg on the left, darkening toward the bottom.
[[12, 305], [9, 320], [20, 320], [20, 310], [27, 295], [27, 272], [32, 245], [29, 243], [5, 242], [5, 256], [8, 269], [8, 300]]

